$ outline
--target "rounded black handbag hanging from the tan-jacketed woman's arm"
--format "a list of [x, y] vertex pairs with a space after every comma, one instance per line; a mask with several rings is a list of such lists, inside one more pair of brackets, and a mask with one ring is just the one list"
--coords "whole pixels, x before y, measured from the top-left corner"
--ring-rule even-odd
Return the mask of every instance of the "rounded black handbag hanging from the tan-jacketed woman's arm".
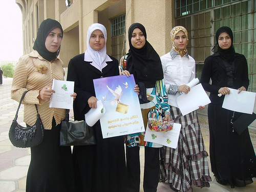
[[12, 121], [10, 130], [9, 130], [9, 139], [11, 143], [16, 147], [22, 147], [22, 148], [32, 147], [40, 144], [44, 139], [44, 133], [45, 133], [45, 129], [44, 129], [44, 126], [42, 125], [42, 121], [38, 113], [36, 104], [35, 104], [35, 109], [37, 112], [37, 117], [34, 125], [23, 127], [17, 122], [18, 110], [27, 92], [28, 91], [25, 91], [22, 95], [22, 98], [20, 98], [16, 115]]

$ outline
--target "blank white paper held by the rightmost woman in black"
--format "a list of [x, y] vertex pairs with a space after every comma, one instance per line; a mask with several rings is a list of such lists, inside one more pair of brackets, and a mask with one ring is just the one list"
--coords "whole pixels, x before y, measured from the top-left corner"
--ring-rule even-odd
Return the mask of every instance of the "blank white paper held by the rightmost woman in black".
[[222, 108], [252, 114], [256, 94], [249, 91], [241, 91], [238, 94], [239, 90], [228, 89], [230, 90], [230, 94], [225, 95]]

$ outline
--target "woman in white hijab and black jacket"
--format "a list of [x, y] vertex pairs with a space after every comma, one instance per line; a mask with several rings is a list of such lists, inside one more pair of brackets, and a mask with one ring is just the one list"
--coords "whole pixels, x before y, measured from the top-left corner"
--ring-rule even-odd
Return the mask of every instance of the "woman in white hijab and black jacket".
[[[84, 120], [96, 108], [93, 79], [119, 75], [118, 60], [106, 54], [106, 29], [92, 24], [87, 33], [87, 48], [69, 62], [68, 80], [75, 81], [75, 120]], [[123, 137], [102, 138], [99, 121], [94, 131], [97, 144], [74, 146], [76, 191], [125, 191], [125, 154]]]

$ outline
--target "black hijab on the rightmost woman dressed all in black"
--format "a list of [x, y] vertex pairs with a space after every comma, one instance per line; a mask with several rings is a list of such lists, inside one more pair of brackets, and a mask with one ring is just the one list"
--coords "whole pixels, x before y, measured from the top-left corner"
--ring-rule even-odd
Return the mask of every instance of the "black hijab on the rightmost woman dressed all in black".
[[[224, 33], [226, 32], [230, 38], [231, 38], [231, 46], [224, 50], [224, 49], [221, 49], [220, 46], [219, 46], [219, 43], [218, 43], [218, 40], [219, 40], [219, 36], [221, 33]], [[226, 61], [228, 62], [231, 62], [234, 58], [234, 54], [236, 53], [234, 51], [234, 46], [233, 46], [233, 33], [232, 33], [232, 30], [229, 28], [229, 27], [221, 27], [217, 30], [216, 32], [216, 44], [214, 46], [214, 48], [212, 48], [212, 52], [219, 52], [220, 53], [220, 56], [223, 57]]]

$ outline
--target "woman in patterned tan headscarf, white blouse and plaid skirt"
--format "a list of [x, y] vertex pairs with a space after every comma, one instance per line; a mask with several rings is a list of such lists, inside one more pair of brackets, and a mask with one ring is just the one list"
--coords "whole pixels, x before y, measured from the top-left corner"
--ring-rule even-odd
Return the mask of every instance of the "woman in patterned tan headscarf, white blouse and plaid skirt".
[[[181, 114], [177, 97], [181, 92], [188, 94], [187, 84], [196, 77], [196, 62], [187, 53], [188, 34], [182, 26], [170, 32], [173, 49], [161, 57], [164, 72], [170, 116], [179, 118]], [[204, 106], [199, 106], [204, 109]], [[177, 148], [163, 147], [162, 168], [160, 179], [167, 180], [170, 188], [175, 191], [192, 191], [192, 186], [209, 187], [209, 167], [207, 152], [203, 142], [197, 112], [181, 116], [177, 123], [181, 131]], [[167, 168], [166, 168], [167, 167]]]

